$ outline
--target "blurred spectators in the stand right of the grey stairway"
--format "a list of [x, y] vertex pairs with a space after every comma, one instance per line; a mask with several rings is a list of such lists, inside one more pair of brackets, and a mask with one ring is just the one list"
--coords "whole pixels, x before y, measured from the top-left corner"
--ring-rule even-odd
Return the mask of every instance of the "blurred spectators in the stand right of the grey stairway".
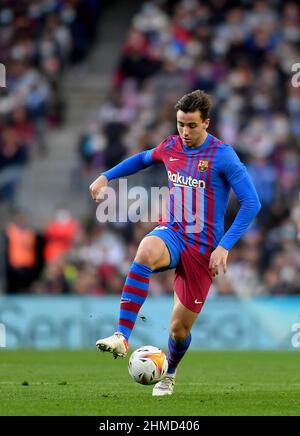
[[[212, 296], [300, 293], [300, 87], [291, 82], [299, 60], [297, 2], [144, 2], [111, 94], [80, 138], [87, 187], [102, 170], [176, 133], [173, 107], [184, 93], [211, 94], [209, 131], [235, 147], [262, 203], [230, 252], [227, 274], [214, 280]], [[131, 176], [128, 186], [165, 182], [164, 169], [155, 166]], [[226, 227], [237, 210], [232, 195]], [[34, 249], [42, 246], [44, 265], [31, 280], [33, 292], [120, 293], [138, 244], [155, 223], [100, 225], [94, 217], [92, 203], [84, 224], [57, 211]], [[172, 277], [173, 271], [152, 275], [150, 292], [172, 292]]]

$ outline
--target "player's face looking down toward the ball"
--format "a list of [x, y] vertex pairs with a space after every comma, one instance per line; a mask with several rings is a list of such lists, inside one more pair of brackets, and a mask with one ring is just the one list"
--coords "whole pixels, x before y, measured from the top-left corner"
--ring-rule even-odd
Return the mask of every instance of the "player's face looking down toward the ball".
[[177, 111], [177, 129], [187, 147], [199, 147], [206, 138], [209, 118], [202, 120], [200, 112]]

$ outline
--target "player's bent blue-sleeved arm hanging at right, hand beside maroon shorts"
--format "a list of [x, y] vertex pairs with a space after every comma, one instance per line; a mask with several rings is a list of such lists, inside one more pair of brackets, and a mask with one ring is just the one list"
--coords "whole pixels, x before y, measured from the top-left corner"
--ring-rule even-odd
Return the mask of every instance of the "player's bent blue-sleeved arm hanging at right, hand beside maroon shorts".
[[210, 268], [214, 275], [218, 274], [220, 266], [226, 272], [229, 250], [244, 235], [261, 208], [257, 192], [245, 166], [231, 147], [226, 154], [223, 175], [235, 192], [241, 207], [218, 247], [211, 254]]

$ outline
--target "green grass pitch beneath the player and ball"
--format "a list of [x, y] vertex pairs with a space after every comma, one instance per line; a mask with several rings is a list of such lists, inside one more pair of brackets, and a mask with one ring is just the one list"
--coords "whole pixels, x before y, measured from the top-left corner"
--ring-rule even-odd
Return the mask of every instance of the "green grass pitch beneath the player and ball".
[[127, 359], [98, 351], [0, 351], [0, 415], [300, 415], [298, 352], [192, 352], [174, 395], [152, 397]]

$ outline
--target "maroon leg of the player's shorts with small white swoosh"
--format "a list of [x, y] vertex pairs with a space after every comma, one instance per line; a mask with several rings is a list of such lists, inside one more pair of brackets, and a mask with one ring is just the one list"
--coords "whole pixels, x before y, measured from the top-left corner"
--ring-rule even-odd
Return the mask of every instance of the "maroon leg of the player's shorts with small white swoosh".
[[175, 269], [174, 291], [180, 302], [192, 312], [201, 312], [212, 282], [209, 259], [210, 256], [186, 246]]

